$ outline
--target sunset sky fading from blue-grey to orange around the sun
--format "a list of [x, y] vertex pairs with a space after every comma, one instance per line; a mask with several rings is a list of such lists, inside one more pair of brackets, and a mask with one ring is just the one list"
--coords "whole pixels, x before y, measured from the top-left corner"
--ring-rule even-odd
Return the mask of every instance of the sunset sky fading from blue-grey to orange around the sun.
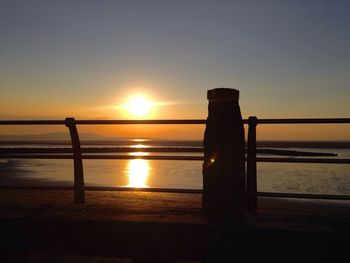
[[[0, 36], [0, 119], [130, 119], [135, 95], [144, 118], [206, 118], [216, 87], [240, 91], [244, 118], [350, 117], [349, 1], [0, 0]], [[350, 140], [319, 127], [260, 136]]]

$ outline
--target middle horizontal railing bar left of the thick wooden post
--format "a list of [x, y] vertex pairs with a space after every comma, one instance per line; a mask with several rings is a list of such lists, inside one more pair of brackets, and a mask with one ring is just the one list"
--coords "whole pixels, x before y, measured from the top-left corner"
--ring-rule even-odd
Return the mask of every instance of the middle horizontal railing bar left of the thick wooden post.
[[[0, 159], [74, 159], [73, 155], [68, 154], [0, 154]], [[203, 161], [202, 156], [170, 156], [170, 155], [82, 155], [81, 159], [96, 160], [128, 160], [128, 159], [144, 159], [144, 160], [172, 160], [172, 161]]]

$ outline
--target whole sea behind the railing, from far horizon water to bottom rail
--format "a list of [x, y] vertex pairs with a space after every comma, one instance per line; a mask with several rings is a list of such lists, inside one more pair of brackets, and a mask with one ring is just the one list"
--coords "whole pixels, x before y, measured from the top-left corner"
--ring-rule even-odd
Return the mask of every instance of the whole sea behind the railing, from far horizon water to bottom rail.
[[[307, 153], [331, 153], [335, 156], [310, 157], [284, 153], [258, 154], [260, 157], [336, 158], [350, 159], [350, 148], [297, 147], [300, 144], [264, 145], [264, 149]], [[269, 147], [270, 146], [270, 147]], [[294, 147], [295, 146], [295, 147]], [[322, 145], [321, 145], [322, 146]], [[60, 142], [0, 143], [0, 151], [12, 149], [67, 149]], [[127, 140], [119, 142], [85, 142], [83, 148], [109, 149], [104, 154], [121, 154], [121, 148], [132, 148], [126, 160], [83, 160], [87, 186], [160, 187], [202, 189], [202, 161], [146, 160], [145, 155], [202, 156], [199, 141]], [[191, 149], [191, 153], [151, 153], [148, 148]], [[113, 152], [119, 149], [117, 152]], [[135, 150], [136, 149], [136, 150]], [[89, 153], [86, 153], [89, 154]], [[0, 155], [1, 156], [1, 155]], [[350, 164], [258, 163], [258, 191], [350, 195]], [[0, 185], [73, 185], [73, 160], [62, 159], [0, 159]]]

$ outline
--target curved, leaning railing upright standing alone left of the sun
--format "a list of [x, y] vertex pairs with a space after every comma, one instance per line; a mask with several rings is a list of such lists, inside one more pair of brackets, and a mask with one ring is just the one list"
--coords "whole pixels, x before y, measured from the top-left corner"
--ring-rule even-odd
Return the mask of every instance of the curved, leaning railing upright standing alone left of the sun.
[[85, 202], [84, 193], [84, 173], [83, 161], [81, 159], [80, 140], [74, 118], [66, 118], [66, 126], [69, 129], [74, 157], [74, 202], [83, 204]]

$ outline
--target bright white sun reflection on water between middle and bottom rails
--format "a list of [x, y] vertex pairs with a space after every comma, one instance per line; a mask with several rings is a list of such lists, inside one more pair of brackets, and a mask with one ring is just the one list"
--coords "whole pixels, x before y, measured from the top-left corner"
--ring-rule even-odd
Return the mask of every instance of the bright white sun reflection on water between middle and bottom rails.
[[129, 183], [127, 186], [137, 188], [147, 187], [150, 169], [151, 167], [148, 160], [129, 160], [127, 168]]

